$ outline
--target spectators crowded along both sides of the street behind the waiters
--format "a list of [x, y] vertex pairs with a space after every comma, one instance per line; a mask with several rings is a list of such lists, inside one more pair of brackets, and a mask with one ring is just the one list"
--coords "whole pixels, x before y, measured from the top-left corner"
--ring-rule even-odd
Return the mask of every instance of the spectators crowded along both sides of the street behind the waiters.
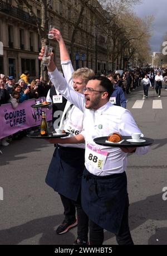
[[[135, 88], [142, 84], [145, 75], [148, 75], [152, 88], [154, 88], [154, 81], [156, 74], [160, 72], [163, 75], [165, 82], [165, 91], [167, 91], [167, 69], [165, 68], [136, 68], [134, 70], [126, 70], [119, 74], [116, 72], [111, 72], [106, 74], [102, 70], [101, 75], [106, 76], [111, 80], [112, 86], [114, 86], [114, 97], [116, 101], [119, 102], [119, 106], [126, 108], [125, 94], [130, 94]], [[41, 78], [36, 77], [36, 79], [30, 78], [30, 73], [26, 70], [20, 75], [20, 79], [16, 81], [13, 76], [7, 76], [1, 74], [0, 76], [0, 106], [11, 102], [13, 108], [17, 108], [19, 103], [26, 101], [31, 98], [46, 97], [51, 84]], [[6, 138], [0, 140], [0, 144], [7, 146], [8, 142]], [[1, 153], [1, 150], [0, 150]]]

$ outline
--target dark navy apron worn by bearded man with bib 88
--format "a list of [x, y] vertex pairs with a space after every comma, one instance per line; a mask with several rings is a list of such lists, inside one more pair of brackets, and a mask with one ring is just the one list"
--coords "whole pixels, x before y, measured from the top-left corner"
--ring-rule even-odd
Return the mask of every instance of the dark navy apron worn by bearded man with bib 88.
[[127, 200], [125, 172], [101, 177], [84, 170], [81, 186], [82, 208], [97, 225], [118, 234]]

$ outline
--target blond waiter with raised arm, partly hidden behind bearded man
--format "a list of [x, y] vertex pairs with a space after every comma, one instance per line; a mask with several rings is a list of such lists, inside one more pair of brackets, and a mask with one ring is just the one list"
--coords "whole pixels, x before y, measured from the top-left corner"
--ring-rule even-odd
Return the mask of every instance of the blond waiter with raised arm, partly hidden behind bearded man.
[[[73, 91], [84, 93], [83, 88], [87, 81], [94, 75], [94, 71], [88, 68], [80, 68], [74, 72], [70, 56], [62, 40], [60, 42], [60, 54], [63, 74]], [[56, 90], [57, 98], [62, 97]], [[56, 96], [54, 96], [56, 97]], [[83, 129], [84, 114], [76, 106], [67, 101], [63, 111], [60, 127], [70, 132], [73, 137]], [[85, 144], [58, 144], [46, 176], [46, 183], [60, 194], [65, 209], [65, 220], [58, 226], [57, 234], [66, 233], [77, 223], [77, 239], [74, 244], [87, 244], [89, 220], [81, 207], [81, 177], [84, 171]], [[77, 222], [71, 202], [77, 209]]]

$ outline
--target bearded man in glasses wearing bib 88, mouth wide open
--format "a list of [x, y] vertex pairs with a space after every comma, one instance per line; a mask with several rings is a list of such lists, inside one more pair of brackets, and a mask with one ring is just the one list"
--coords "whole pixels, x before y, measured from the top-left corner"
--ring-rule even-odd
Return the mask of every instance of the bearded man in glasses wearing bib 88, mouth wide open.
[[[41, 50], [39, 59], [42, 59]], [[116, 235], [118, 244], [133, 244], [128, 224], [127, 153], [142, 155], [149, 147], [110, 148], [99, 146], [94, 138], [111, 132], [131, 135], [140, 132], [131, 113], [109, 102], [112, 87], [109, 79], [94, 77], [80, 94], [60, 77], [53, 55], [48, 66], [50, 79], [58, 91], [84, 112], [84, 131], [69, 139], [51, 139], [51, 143], [83, 143], [85, 141], [85, 171], [82, 177], [82, 207], [90, 219], [90, 244], [100, 245], [104, 229]], [[100, 164], [101, 163], [101, 164]]]

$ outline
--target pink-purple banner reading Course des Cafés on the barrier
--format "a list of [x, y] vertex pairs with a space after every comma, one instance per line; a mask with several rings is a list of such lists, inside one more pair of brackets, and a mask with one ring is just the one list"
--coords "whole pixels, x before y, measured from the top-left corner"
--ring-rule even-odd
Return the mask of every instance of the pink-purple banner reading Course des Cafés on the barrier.
[[20, 130], [40, 125], [42, 111], [46, 112], [47, 121], [52, 120], [52, 109], [32, 108], [33, 104], [35, 104], [35, 99], [19, 103], [15, 109], [11, 103], [0, 106], [0, 139]]

